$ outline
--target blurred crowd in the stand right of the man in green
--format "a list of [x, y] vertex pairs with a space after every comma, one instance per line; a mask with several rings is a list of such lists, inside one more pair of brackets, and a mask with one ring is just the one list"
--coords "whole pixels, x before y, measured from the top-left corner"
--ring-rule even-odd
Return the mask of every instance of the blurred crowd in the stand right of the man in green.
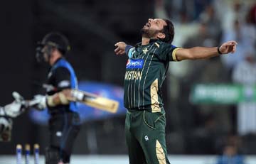
[[[256, 153], [256, 102], [251, 99], [256, 84], [256, 2], [156, 0], [154, 14], [174, 22], [176, 46], [214, 47], [228, 40], [238, 42], [232, 55], [171, 63], [167, 88], [172, 102], [166, 108], [172, 125], [166, 130], [170, 153]], [[241, 84], [248, 101], [192, 105], [188, 94], [197, 83]]]

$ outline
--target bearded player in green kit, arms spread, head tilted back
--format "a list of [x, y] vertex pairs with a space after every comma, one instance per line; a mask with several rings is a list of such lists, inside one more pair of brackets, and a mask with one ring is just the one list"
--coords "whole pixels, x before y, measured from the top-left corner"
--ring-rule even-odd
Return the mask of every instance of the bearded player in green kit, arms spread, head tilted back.
[[228, 41], [214, 48], [178, 48], [171, 45], [174, 25], [169, 20], [149, 18], [141, 30], [142, 43], [135, 47], [115, 44], [117, 55], [128, 55], [124, 75], [125, 135], [130, 164], [169, 163], [166, 152], [166, 118], [161, 86], [169, 62], [211, 58], [234, 53], [237, 43]]

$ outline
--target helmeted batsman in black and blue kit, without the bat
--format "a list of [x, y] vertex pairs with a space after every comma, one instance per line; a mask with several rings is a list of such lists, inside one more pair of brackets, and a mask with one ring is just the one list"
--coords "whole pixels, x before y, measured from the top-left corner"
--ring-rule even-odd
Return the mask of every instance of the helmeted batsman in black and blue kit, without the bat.
[[30, 101], [37, 109], [48, 107], [50, 114], [50, 144], [46, 148], [46, 164], [70, 163], [75, 138], [80, 130], [80, 117], [76, 102], [68, 101], [64, 89], [78, 88], [75, 71], [64, 55], [69, 50], [68, 39], [60, 33], [48, 33], [36, 49], [39, 61], [47, 62], [47, 95], [36, 95]]

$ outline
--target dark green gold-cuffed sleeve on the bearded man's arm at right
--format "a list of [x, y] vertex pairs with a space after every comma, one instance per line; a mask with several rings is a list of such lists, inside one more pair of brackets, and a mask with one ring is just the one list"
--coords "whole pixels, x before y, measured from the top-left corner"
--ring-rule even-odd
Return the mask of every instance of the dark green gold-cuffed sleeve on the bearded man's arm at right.
[[161, 60], [178, 61], [176, 58], [176, 52], [180, 48], [168, 43], [163, 43], [160, 45], [159, 49], [159, 58], [161, 58]]

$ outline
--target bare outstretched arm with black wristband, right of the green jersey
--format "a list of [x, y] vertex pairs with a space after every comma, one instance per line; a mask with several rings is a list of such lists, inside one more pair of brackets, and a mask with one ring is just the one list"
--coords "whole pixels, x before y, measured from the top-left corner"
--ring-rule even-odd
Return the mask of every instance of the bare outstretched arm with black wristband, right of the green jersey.
[[206, 48], [206, 47], [194, 47], [194, 48], [178, 48], [176, 51], [176, 58], [181, 60], [196, 60], [211, 58], [220, 54], [235, 53], [236, 43], [234, 40], [228, 41], [220, 45], [220, 47]]

